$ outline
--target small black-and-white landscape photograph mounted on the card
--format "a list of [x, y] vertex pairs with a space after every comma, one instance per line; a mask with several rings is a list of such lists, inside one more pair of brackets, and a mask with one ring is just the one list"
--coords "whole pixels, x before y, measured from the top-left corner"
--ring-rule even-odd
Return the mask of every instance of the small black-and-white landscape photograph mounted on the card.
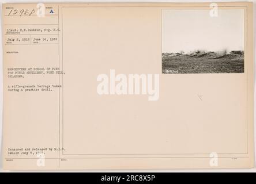
[[244, 10], [163, 10], [162, 73], [244, 72]]

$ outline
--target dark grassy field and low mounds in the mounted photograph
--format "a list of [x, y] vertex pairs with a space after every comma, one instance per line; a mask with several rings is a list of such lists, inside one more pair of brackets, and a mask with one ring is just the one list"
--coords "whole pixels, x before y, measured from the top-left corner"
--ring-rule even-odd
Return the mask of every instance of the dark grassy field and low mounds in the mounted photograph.
[[162, 53], [163, 74], [243, 73], [244, 52]]

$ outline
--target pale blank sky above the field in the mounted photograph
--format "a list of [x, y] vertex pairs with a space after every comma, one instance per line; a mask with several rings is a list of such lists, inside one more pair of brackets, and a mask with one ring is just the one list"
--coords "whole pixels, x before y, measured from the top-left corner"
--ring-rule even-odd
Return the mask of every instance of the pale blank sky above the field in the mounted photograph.
[[163, 10], [162, 51], [185, 53], [244, 49], [244, 10]]

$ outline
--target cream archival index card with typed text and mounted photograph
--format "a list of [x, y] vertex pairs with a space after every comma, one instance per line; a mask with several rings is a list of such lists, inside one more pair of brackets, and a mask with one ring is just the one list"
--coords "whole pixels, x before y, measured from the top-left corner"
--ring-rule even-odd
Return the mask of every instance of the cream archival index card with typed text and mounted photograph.
[[253, 4], [3, 4], [5, 170], [249, 168]]

